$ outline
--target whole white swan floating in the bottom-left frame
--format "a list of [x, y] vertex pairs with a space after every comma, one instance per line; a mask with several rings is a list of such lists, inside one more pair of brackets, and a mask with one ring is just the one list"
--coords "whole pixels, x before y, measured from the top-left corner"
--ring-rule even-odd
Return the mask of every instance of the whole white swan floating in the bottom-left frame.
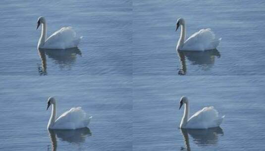
[[52, 114], [48, 123], [48, 129], [75, 130], [88, 126], [92, 116], [89, 116], [81, 107], [73, 107], [56, 119], [56, 101], [49, 97], [48, 106], [52, 104]]

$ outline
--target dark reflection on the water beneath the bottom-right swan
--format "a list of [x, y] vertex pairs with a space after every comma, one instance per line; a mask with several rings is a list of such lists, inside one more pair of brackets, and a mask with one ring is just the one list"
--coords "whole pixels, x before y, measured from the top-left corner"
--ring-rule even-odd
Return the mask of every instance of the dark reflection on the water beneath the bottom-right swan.
[[180, 151], [191, 151], [189, 135], [193, 142], [198, 146], [211, 146], [218, 142], [218, 135], [223, 135], [220, 127], [210, 129], [180, 129], [186, 148], [182, 147]]

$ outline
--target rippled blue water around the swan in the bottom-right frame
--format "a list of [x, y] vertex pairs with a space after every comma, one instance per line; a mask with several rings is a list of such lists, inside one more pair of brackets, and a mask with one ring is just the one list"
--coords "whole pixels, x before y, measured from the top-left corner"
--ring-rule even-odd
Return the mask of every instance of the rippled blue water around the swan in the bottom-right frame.
[[[263, 151], [264, 76], [136, 76], [133, 151]], [[225, 115], [220, 129], [181, 132], [179, 99], [190, 116], [205, 106]]]

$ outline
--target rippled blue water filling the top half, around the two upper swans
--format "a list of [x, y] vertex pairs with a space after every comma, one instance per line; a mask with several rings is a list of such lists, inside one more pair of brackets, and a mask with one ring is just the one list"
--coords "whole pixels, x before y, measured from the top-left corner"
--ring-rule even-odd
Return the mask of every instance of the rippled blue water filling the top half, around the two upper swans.
[[[4, 0], [0, 14], [0, 75], [265, 75], [264, 0]], [[72, 26], [79, 51], [41, 55], [39, 16], [48, 35]], [[218, 51], [177, 54], [179, 17]]]

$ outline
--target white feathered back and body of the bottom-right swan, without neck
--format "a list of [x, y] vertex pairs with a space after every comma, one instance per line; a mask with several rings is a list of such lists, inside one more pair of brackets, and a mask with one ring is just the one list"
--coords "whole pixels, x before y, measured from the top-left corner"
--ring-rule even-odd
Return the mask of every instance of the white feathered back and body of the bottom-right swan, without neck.
[[224, 116], [220, 117], [213, 106], [205, 107], [196, 112], [189, 120], [185, 128], [189, 129], [208, 129], [218, 127]]

